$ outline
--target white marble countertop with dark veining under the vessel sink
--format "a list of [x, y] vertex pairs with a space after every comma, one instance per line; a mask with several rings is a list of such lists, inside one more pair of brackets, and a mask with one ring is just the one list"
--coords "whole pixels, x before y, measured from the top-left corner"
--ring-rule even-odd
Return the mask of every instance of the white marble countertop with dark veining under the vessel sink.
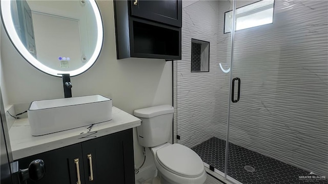
[[41, 136], [31, 135], [27, 118], [18, 119], [9, 130], [9, 139], [13, 159], [16, 160], [137, 127], [140, 124], [140, 119], [113, 107], [110, 121]]

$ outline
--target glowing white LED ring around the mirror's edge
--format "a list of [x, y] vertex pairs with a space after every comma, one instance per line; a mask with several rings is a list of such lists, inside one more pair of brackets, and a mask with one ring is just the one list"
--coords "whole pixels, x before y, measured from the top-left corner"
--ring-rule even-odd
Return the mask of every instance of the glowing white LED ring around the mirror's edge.
[[7, 35], [9, 36], [9, 39], [13, 43], [14, 47], [16, 50], [19, 52], [20, 55], [23, 56], [23, 58], [28, 61], [32, 66], [36, 67], [38, 70], [52, 75], [56, 77], [61, 77], [61, 75], [58, 74], [70, 74], [70, 76], [77, 76], [79, 74], [82, 74], [86, 72], [97, 60], [101, 48], [103, 46], [103, 37], [104, 37], [104, 32], [103, 32], [103, 22], [101, 20], [101, 15], [100, 11], [98, 9], [98, 6], [94, 0], [89, 0], [91, 7], [93, 9], [93, 12], [96, 17], [96, 22], [97, 22], [97, 42], [96, 42], [96, 47], [95, 50], [90, 57], [89, 61], [86, 62], [83, 66], [77, 68], [76, 70], [73, 71], [59, 71], [59, 70], [54, 70], [37, 59], [35, 59], [30, 52], [26, 49], [22, 41], [20, 41], [20, 38], [18, 37], [18, 34], [15, 30], [12, 17], [11, 17], [11, 7], [10, 4], [12, 1], [10, 0], [1, 0], [1, 11], [2, 11], [2, 20], [4, 22], [4, 27], [6, 28]]

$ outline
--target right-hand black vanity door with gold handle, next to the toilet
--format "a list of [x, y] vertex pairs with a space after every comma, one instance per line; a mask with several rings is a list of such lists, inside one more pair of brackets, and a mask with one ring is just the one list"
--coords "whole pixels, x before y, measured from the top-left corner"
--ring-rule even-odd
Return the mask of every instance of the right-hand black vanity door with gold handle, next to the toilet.
[[86, 183], [135, 183], [132, 129], [83, 142], [82, 150]]

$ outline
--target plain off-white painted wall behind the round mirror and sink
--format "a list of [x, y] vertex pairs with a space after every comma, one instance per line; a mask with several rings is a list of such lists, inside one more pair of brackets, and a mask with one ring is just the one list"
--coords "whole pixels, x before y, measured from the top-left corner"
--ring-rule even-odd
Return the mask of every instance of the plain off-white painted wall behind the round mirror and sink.
[[[97, 1], [104, 24], [104, 44], [97, 62], [84, 74], [71, 78], [72, 95], [100, 94], [113, 105], [133, 113], [148, 106], [172, 105], [172, 62], [162, 59], [116, 59], [112, 1]], [[1, 55], [10, 104], [63, 98], [61, 78], [36, 70], [14, 49], [6, 33], [1, 33]], [[135, 164], [142, 163], [141, 147], [134, 130]], [[151, 156], [150, 156], [151, 157]]]

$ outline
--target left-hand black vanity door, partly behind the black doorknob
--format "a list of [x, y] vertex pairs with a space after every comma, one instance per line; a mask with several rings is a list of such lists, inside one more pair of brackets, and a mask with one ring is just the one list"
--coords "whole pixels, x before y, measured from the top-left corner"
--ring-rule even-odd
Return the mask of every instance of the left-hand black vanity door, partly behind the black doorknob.
[[44, 160], [45, 175], [38, 181], [28, 179], [27, 183], [75, 184], [78, 180], [77, 164], [79, 165], [81, 184], [85, 183], [81, 144], [75, 144], [19, 159], [19, 169], [28, 168], [31, 161], [35, 159]]

